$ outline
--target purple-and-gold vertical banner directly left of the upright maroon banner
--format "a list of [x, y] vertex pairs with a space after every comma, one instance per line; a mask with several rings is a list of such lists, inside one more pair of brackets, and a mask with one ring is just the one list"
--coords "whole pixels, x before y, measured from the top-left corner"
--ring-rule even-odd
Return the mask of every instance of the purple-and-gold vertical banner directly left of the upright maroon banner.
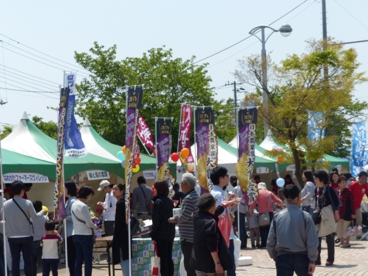
[[173, 143], [172, 118], [155, 118], [156, 149], [157, 149], [157, 179], [166, 180], [169, 184], [169, 196], [174, 195], [175, 179], [170, 171], [169, 159]]

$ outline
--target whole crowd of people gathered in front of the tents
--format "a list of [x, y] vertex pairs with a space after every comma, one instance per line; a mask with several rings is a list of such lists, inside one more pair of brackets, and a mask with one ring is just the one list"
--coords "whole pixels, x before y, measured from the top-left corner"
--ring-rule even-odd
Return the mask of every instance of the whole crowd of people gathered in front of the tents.
[[[362, 225], [367, 213], [361, 210], [364, 194], [368, 195], [367, 173], [361, 172], [357, 181], [350, 174], [339, 175], [336, 170], [304, 171], [300, 190], [289, 175], [285, 185], [271, 189], [259, 176], [253, 181], [258, 196], [249, 203], [235, 176], [229, 177], [224, 167], [213, 168], [209, 193], [198, 194], [194, 174], [185, 173], [180, 184], [175, 184], [174, 196], [169, 198], [166, 181], [147, 186], [144, 177], [131, 194], [131, 211], [142, 221], [152, 219], [150, 237], [161, 259], [161, 276], [174, 275], [173, 243], [178, 225], [184, 268], [188, 276], [204, 276], [226, 271], [235, 276], [234, 239], [241, 248], [267, 248], [276, 262], [277, 275], [311, 275], [321, 265], [321, 242], [327, 244], [326, 266], [335, 262], [335, 247], [350, 248], [347, 229]], [[233, 187], [228, 191], [228, 185]], [[29, 186], [29, 185], [28, 185]], [[42, 210], [42, 202], [33, 203], [24, 198], [27, 187], [16, 181], [7, 187], [3, 214], [6, 220], [6, 238], [12, 256], [12, 275], [18, 276], [20, 253], [23, 255], [26, 276], [37, 274], [39, 253], [42, 249], [43, 275], [58, 272], [58, 247], [63, 242], [55, 223]], [[29, 190], [29, 189], [28, 189]], [[92, 276], [92, 251], [95, 230], [104, 227], [105, 235], [112, 236], [113, 265], [120, 264], [124, 276], [129, 275], [129, 237], [125, 216], [125, 185], [102, 181], [98, 191], [105, 194], [97, 202], [97, 218], [88, 206], [94, 194], [91, 186], [78, 187], [65, 183], [66, 251], [71, 276]], [[9, 196], [10, 195], [10, 196]], [[4, 196], [5, 197], [5, 196]], [[174, 208], [181, 208], [174, 215]], [[16, 219], [13, 219], [13, 218]], [[366, 222], [366, 224], [368, 224]], [[239, 226], [239, 227], [238, 227]], [[4, 236], [0, 229], [0, 246]], [[359, 239], [360, 236], [357, 236]], [[82, 268], [84, 264], [84, 273]], [[4, 273], [4, 256], [0, 255], [0, 270]]]

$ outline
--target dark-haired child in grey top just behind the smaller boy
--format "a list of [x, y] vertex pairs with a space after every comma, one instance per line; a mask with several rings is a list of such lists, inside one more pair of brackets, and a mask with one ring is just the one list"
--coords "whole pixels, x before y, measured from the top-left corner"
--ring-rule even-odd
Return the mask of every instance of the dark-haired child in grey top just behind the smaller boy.
[[[41, 212], [42, 210], [42, 202], [39, 200], [35, 200], [32, 202], [33, 207], [36, 213]], [[37, 220], [31, 219], [33, 224], [33, 247], [32, 247], [32, 276], [37, 276], [37, 262], [38, 255], [41, 247], [41, 238], [46, 234], [45, 231], [45, 223], [49, 221], [48, 216], [43, 215], [41, 218]]]

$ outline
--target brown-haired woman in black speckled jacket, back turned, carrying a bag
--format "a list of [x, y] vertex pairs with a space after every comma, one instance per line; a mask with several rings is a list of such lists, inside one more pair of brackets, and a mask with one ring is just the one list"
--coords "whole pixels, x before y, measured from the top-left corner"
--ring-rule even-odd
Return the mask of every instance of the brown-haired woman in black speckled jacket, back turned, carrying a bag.
[[161, 261], [161, 276], [174, 276], [173, 243], [175, 224], [170, 223], [173, 216], [173, 201], [168, 197], [169, 184], [165, 180], [155, 182], [155, 194], [152, 211], [152, 242], [157, 246]]

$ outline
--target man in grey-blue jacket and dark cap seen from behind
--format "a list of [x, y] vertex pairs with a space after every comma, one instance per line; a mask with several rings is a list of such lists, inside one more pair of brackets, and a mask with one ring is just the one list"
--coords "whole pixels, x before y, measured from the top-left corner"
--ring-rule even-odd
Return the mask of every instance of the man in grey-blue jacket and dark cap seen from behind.
[[318, 256], [318, 235], [311, 215], [301, 209], [300, 190], [288, 184], [283, 189], [287, 207], [271, 223], [267, 251], [276, 261], [277, 276], [313, 275]]

